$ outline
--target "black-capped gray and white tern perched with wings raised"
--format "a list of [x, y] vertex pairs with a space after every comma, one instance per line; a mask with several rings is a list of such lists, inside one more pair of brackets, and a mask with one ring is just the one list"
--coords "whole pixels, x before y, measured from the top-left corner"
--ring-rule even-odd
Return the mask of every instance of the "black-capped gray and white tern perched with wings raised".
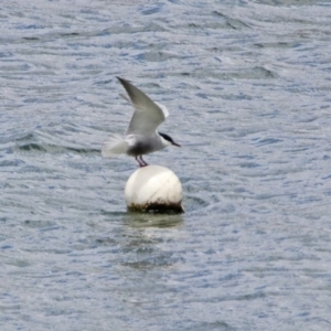
[[114, 158], [126, 153], [135, 157], [141, 168], [148, 166], [142, 156], [169, 146], [181, 147], [170, 136], [158, 131], [158, 127], [169, 116], [167, 107], [153, 102], [129, 81], [118, 76], [116, 78], [121, 83], [129, 97], [121, 96], [132, 104], [135, 111], [125, 136], [111, 135], [104, 142], [103, 157]]

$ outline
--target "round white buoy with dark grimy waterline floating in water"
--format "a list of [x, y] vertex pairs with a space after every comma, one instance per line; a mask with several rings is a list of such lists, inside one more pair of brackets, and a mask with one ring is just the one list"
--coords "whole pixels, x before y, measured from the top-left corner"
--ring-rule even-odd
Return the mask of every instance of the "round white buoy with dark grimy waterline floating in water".
[[129, 178], [125, 197], [131, 211], [183, 213], [182, 184], [168, 168], [147, 166]]

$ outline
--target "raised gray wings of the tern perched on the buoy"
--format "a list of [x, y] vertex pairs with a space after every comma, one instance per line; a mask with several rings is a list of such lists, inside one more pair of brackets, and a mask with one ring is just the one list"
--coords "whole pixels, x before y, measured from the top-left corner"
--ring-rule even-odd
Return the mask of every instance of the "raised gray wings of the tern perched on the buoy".
[[126, 135], [152, 135], [158, 126], [166, 120], [168, 109], [152, 102], [143, 92], [130, 82], [117, 77], [125, 87], [135, 107], [135, 113], [126, 131]]

